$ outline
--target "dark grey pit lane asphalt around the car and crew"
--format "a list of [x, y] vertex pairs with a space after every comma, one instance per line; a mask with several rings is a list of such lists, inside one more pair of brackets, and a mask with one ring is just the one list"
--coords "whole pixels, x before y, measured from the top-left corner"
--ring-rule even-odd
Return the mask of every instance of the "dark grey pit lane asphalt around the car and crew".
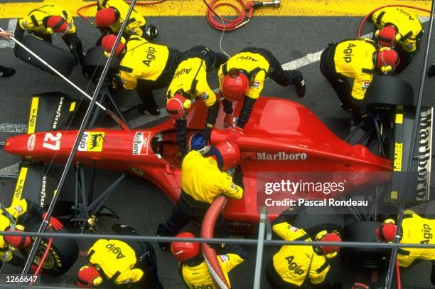
[[[0, 26], [7, 27], [9, 19], [1, 19]], [[99, 33], [82, 19], [75, 19], [78, 27], [78, 34], [82, 38], [85, 50], [90, 48]], [[208, 26], [205, 17], [148, 17], [149, 23], [154, 23], [159, 28], [157, 43], [164, 43], [173, 48], [184, 51], [195, 45], [205, 45], [219, 51], [219, 39], [221, 33]], [[281, 63], [294, 61], [308, 53], [315, 53], [325, 48], [328, 43], [340, 41], [345, 38], [354, 38], [358, 28], [360, 18], [354, 17], [254, 17], [245, 27], [231, 33], [225, 33], [222, 40], [222, 47], [227, 53], [236, 53], [247, 46], [258, 46], [268, 48], [274, 53]], [[427, 23], [426, 23], [427, 24]], [[424, 25], [427, 27], [427, 25]], [[368, 33], [371, 27], [365, 29]], [[427, 31], [427, 29], [426, 29]], [[424, 36], [423, 44], [426, 36]], [[63, 41], [56, 39], [55, 43], [65, 48]], [[422, 60], [424, 47], [414, 58], [411, 65], [399, 75], [399, 78], [409, 81], [417, 95], [419, 80], [421, 76]], [[432, 49], [432, 51], [434, 51]], [[434, 53], [431, 53], [429, 63], [435, 61]], [[47, 73], [43, 73], [36, 68], [14, 58], [11, 48], [0, 50], [0, 64], [16, 68], [17, 73], [12, 78], [0, 79], [0, 123], [26, 124], [28, 120], [28, 110], [30, 96], [33, 93], [48, 91], [63, 91], [68, 95], [80, 98], [76, 93], [60, 78], [56, 78]], [[345, 112], [340, 110], [340, 103], [335, 96], [331, 86], [318, 70], [318, 62], [300, 68], [306, 80], [307, 93], [303, 99], [297, 98], [293, 87], [282, 88], [272, 81], [265, 85], [263, 95], [277, 96], [296, 100], [309, 107], [316, 115], [326, 117], [344, 117]], [[87, 80], [81, 75], [80, 69], [75, 68], [70, 80], [80, 86], [87, 87]], [[218, 82], [213, 73], [210, 77], [210, 86], [218, 87]], [[92, 85], [88, 92], [92, 91]], [[425, 105], [435, 105], [434, 98], [435, 80], [429, 79], [426, 82], [424, 96]], [[156, 93], [159, 106], [164, 104], [164, 90]], [[136, 93], [123, 93], [119, 96], [119, 102], [124, 106], [138, 103]], [[129, 119], [137, 117], [135, 113], [127, 115]], [[0, 134], [0, 141], [3, 141], [11, 134]], [[18, 158], [0, 152], [0, 168], [18, 162]], [[59, 169], [53, 169], [58, 173]], [[99, 172], [97, 174], [97, 191], [102, 191], [108, 185], [109, 180], [114, 179], [117, 174], [112, 172]], [[71, 199], [73, 192], [73, 179], [68, 178], [67, 185], [63, 190], [63, 198]], [[9, 194], [14, 188], [14, 182], [1, 180], [1, 196], [3, 204], [9, 204]], [[131, 177], [124, 181], [111, 196], [107, 206], [117, 212], [121, 217], [121, 222], [134, 226], [142, 234], [153, 235], [156, 226], [164, 221], [171, 211], [171, 202], [163, 194], [149, 186], [140, 179]], [[108, 233], [110, 224], [116, 223], [111, 219], [100, 219], [100, 233]], [[198, 231], [198, 230], [196, 230]], [[80, 250], [87, 250], [89, 242], [80, 242]], [[176, 261], [168, 252], [161, 252], [154, 244], [159, 263], [159, 276], [166, 288], [183, 288], [177, 273]], [[249, 257], [241, 266], [235, 268], [230, 273], [231, 282], [234, 288], [252, 288], [254, 280], [255, 248], [248, 247]], [[276, 248], [266, 248], [264, 254], [264, 265], [267, 263]], [[75, 285], [75, 273], [78, 268], [85, 263], [85, 258], [80, 257], [75, 266], [65, 275], [59, 278], [44, 278], [44, 282], [53, 285]], [[355, 271], [346, 270], [342, 267], [338, 258], [331, 262], [331, 273], [329, 278], [333, 282], [340, 281], [349, 288], [355, 281], [367, 280], [369, 273], [358, 274]], [[264, 272], [264, 266], [263, 270]], [[6, 268], [6, 272], [17, 272], [11, 267]], [[404, 270], [402, 273], [403, 288], [432, 288], [429, 281], [430, 266], [429, 262], [420, 262], [412, 268]], [[105, 286], [104, 286], [105, 287]], [[262, 288], [268, 288], [262, 275]]]

